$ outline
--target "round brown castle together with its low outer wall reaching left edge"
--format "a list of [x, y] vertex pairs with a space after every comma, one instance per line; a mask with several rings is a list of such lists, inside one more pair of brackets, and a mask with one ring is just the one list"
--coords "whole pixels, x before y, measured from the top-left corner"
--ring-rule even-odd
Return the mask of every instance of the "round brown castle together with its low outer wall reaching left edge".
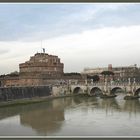
[[1, 86], [31, 86], [57, 83], [63, 76], [60, 58], [47, 53], [36, 53], [29, 61], [19, 64], [18, 74], [2, 75]]

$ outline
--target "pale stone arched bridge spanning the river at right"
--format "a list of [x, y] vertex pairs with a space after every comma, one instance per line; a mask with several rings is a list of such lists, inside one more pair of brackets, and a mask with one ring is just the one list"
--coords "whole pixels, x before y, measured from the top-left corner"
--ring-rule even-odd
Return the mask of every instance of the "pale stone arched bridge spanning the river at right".
[[118, 90], [126, 93], [126, 95], [138, 96], [140, 93], [139, 83], [91, 83], [91, 84], [73, 84], [69, 85], [71, 93], [73, 94], [89, 94], [89, 95], [112, 95]]

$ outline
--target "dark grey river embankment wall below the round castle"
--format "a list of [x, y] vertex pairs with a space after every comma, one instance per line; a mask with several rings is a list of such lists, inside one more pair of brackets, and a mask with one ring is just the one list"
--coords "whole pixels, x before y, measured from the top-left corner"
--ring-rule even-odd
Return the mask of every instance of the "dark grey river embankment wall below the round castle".
[[52, 95], [52, 86], [1, 87], [0, 101], [30, 99]]

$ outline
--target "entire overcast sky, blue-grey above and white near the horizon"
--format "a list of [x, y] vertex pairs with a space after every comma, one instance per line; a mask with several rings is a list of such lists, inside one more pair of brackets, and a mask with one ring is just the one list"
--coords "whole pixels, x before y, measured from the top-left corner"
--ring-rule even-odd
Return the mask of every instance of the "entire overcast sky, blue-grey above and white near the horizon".
[[[42, 45], [41, 45], [42, 42]], [[140, 4], [0, 4], [0, 74], [45, 48], [65, 72], [140, 66]]]

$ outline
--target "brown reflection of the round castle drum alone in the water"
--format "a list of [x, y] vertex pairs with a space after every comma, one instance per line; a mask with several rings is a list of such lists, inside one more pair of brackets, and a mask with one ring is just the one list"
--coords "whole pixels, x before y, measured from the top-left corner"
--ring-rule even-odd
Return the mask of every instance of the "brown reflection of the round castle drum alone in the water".
[[56, 108], [34, 110], [20, 115], [22, 125], [30, 126], [42, 135], [59, 130], [64, 119], [64, 110]]

